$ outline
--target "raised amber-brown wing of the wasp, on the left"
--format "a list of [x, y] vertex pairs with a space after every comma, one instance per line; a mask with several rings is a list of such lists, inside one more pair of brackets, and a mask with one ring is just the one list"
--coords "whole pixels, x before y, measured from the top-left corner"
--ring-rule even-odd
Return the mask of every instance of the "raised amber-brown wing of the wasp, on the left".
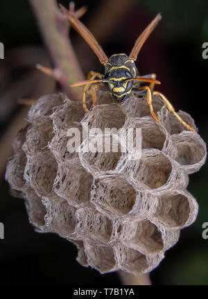
[[85, 42], [89, 44], [89, 46], [92, 48], [98, 59], [100, 60], [101, 64], [105, 64], [107, 62], [108, 58], [105, 55], [103, 49], [98, 44], [92, 33], [85, 27], [85, 25], [78, 20], [75, 13], [71, 12], [70, 10], [67, 10], [60, 4], [60, 8], [62, 12], [64, 12], [64, 15], [67, 16], [69, 19], [69, 22], [71, 26], [85, 39]]

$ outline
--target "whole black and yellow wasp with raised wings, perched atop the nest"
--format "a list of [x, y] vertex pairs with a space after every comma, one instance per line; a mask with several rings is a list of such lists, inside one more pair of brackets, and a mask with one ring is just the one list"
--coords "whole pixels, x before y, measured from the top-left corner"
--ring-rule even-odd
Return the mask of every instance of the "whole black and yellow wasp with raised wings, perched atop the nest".
[[[137, 56], [141, 47], [148, 39], [150, 33], [155, 29], [160, 19], [162, 19], [161, 15], [158, 14], [153, 21], [146, 27], [146, 29], [139, 35], [137, 38], [135, 45], [132, 48], [130, 55], [126, 55], [124, 53], [114, 54], [110, 58], [107, 58], [103, 49], [98, 44], [92, 33], [83, 25], [82, 22], [78, 20], [76, 15], [74, 14], [73, 10], [67, 10], [64, 6], [60, 5], [62, 12], [67, 16], [71, 26], [85, 39], [87, 44], [92, 48], [98, 59], [100, 60], [101, 64], [105, 66], [105, 75], [101, 73], [95, 73], [94, 71], [89, 72], [87, 76], [87, 80], [76, 82], [71, 84], [71, 87], [78, 87], [81, 85], [85, 85], [83, 89], [83, 108], [85, 112], [89, 112], [86, 106], [86, 93], [91, 87], [92, 84], [96, 83], [92, 88], [92, 104], [95, 105], [96, 103], [96, 89], [105, 87], [114, 98], [122, 103], [125, 98], [133, 91], [133, 92], [147, 92], [147, 102], [150, 107], [151, 115], [159, 122], [159, 117], [153, 111], [152, 105], [152, 93], [160, 96], [166, 107], [170, 112], [172, 112], [175, 117], [192, 132], [196, 132], [192, 127], [190, 127], [187, 123], [182, 120], [182, 118], [175, 112], [175, 109], [171, 105], [171, 103], [166, 99], [162, 93], [158, 91], [153, 91], [155, 84], [160, 84], [159, 81], [156, 80], [156, 75], [144, 75], [139, 77], [139, 73], [135, 66], [135, 61], [137, 60]], [[150, 83], [149, 86], [139, 87], [139, 82], [148, 82]], [[101, 83], [101, 85], [100, 85]], [[104, 84], [104, 85], [103, 85]]]

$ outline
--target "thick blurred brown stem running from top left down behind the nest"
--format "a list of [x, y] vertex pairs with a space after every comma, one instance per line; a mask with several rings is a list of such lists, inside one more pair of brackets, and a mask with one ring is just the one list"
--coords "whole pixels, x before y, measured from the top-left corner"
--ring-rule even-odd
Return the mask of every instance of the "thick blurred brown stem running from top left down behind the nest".
[[[84, 79], [78, 60], [68, 37], [69, 22], [62, 15], [55, 0], [31, 0], [44, 41], [49, 48], [51, 58], [58, 73], [58, 82], [71, 98], [80, 100], [82, 91], [70, 89], [69, 85]], [[79, 10], [78, 16], [83, 15]], [[56, 78], [57, 79], [57, 78]]]

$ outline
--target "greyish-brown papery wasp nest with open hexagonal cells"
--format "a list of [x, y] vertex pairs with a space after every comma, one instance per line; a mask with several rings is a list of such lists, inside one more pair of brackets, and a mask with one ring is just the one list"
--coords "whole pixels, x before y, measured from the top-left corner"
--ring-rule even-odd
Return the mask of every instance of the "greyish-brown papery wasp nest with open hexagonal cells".
[[[132, 94], [123, 105], [105, 91], [97, 98], [89, 114], [63, 94], [40, 98], [13, 143], [6, 179], [12, 194], [25, 199], [36, 230], [73, 242], [80, 264], [140, 275], [154, 269], [196, 219], [198, 203], [186, 189], [189, 174], [205, 163], [206, 147], [158, 96], [153, 109], [160, 123], [150, 116], [146, 97]], [[189, 114], [179, 115], [196, 129]], [[121, 146], [83, 150], [92, 138], [83, 138], [86, 123], [102, 132], [141, 128], [141, 157], [129, 159]], [[81, 132], [79, 152], [67, 147], [70, 128]]]

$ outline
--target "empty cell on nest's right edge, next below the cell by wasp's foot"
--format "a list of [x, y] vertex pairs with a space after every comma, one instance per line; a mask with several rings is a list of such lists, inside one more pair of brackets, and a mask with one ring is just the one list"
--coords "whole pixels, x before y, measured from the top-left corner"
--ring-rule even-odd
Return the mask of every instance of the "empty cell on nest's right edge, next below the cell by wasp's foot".
[[183, 227], [190, 215], [189, 199], [184, 194], [164, 194], [160, 197], [158, 212], [155, 213], [167, 228]]

